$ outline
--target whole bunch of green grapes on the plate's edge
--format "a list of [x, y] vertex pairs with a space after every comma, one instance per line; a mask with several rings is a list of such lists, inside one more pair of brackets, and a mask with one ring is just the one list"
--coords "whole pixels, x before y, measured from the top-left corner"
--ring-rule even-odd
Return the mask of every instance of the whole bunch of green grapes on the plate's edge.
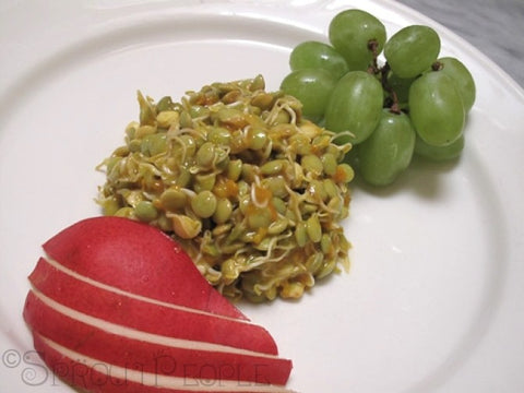
[[329, 41], [296, 46], [281, 90], [301, 100], [303, 116], [353, 143], [352, 162], [367, 182], [392, 183], [414, 154], [461, 154], [475, 82], [458, 59], [439, 58], [433, 28], [409, 25], [388, 39], [376, 16], [350, 9], [333, 17]]

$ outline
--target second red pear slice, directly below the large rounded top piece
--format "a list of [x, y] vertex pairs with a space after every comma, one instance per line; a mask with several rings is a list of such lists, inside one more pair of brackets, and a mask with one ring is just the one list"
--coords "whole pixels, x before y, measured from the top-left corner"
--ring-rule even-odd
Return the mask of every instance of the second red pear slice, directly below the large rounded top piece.
[[72, 272], [58, 269], [58, 263], [53, 264], [40, 258], [29, 282], [47, 297], [82, 313], [142, 332], [277, 355], [273, 337], [262, 326], [115, 293], [79, 279]]

